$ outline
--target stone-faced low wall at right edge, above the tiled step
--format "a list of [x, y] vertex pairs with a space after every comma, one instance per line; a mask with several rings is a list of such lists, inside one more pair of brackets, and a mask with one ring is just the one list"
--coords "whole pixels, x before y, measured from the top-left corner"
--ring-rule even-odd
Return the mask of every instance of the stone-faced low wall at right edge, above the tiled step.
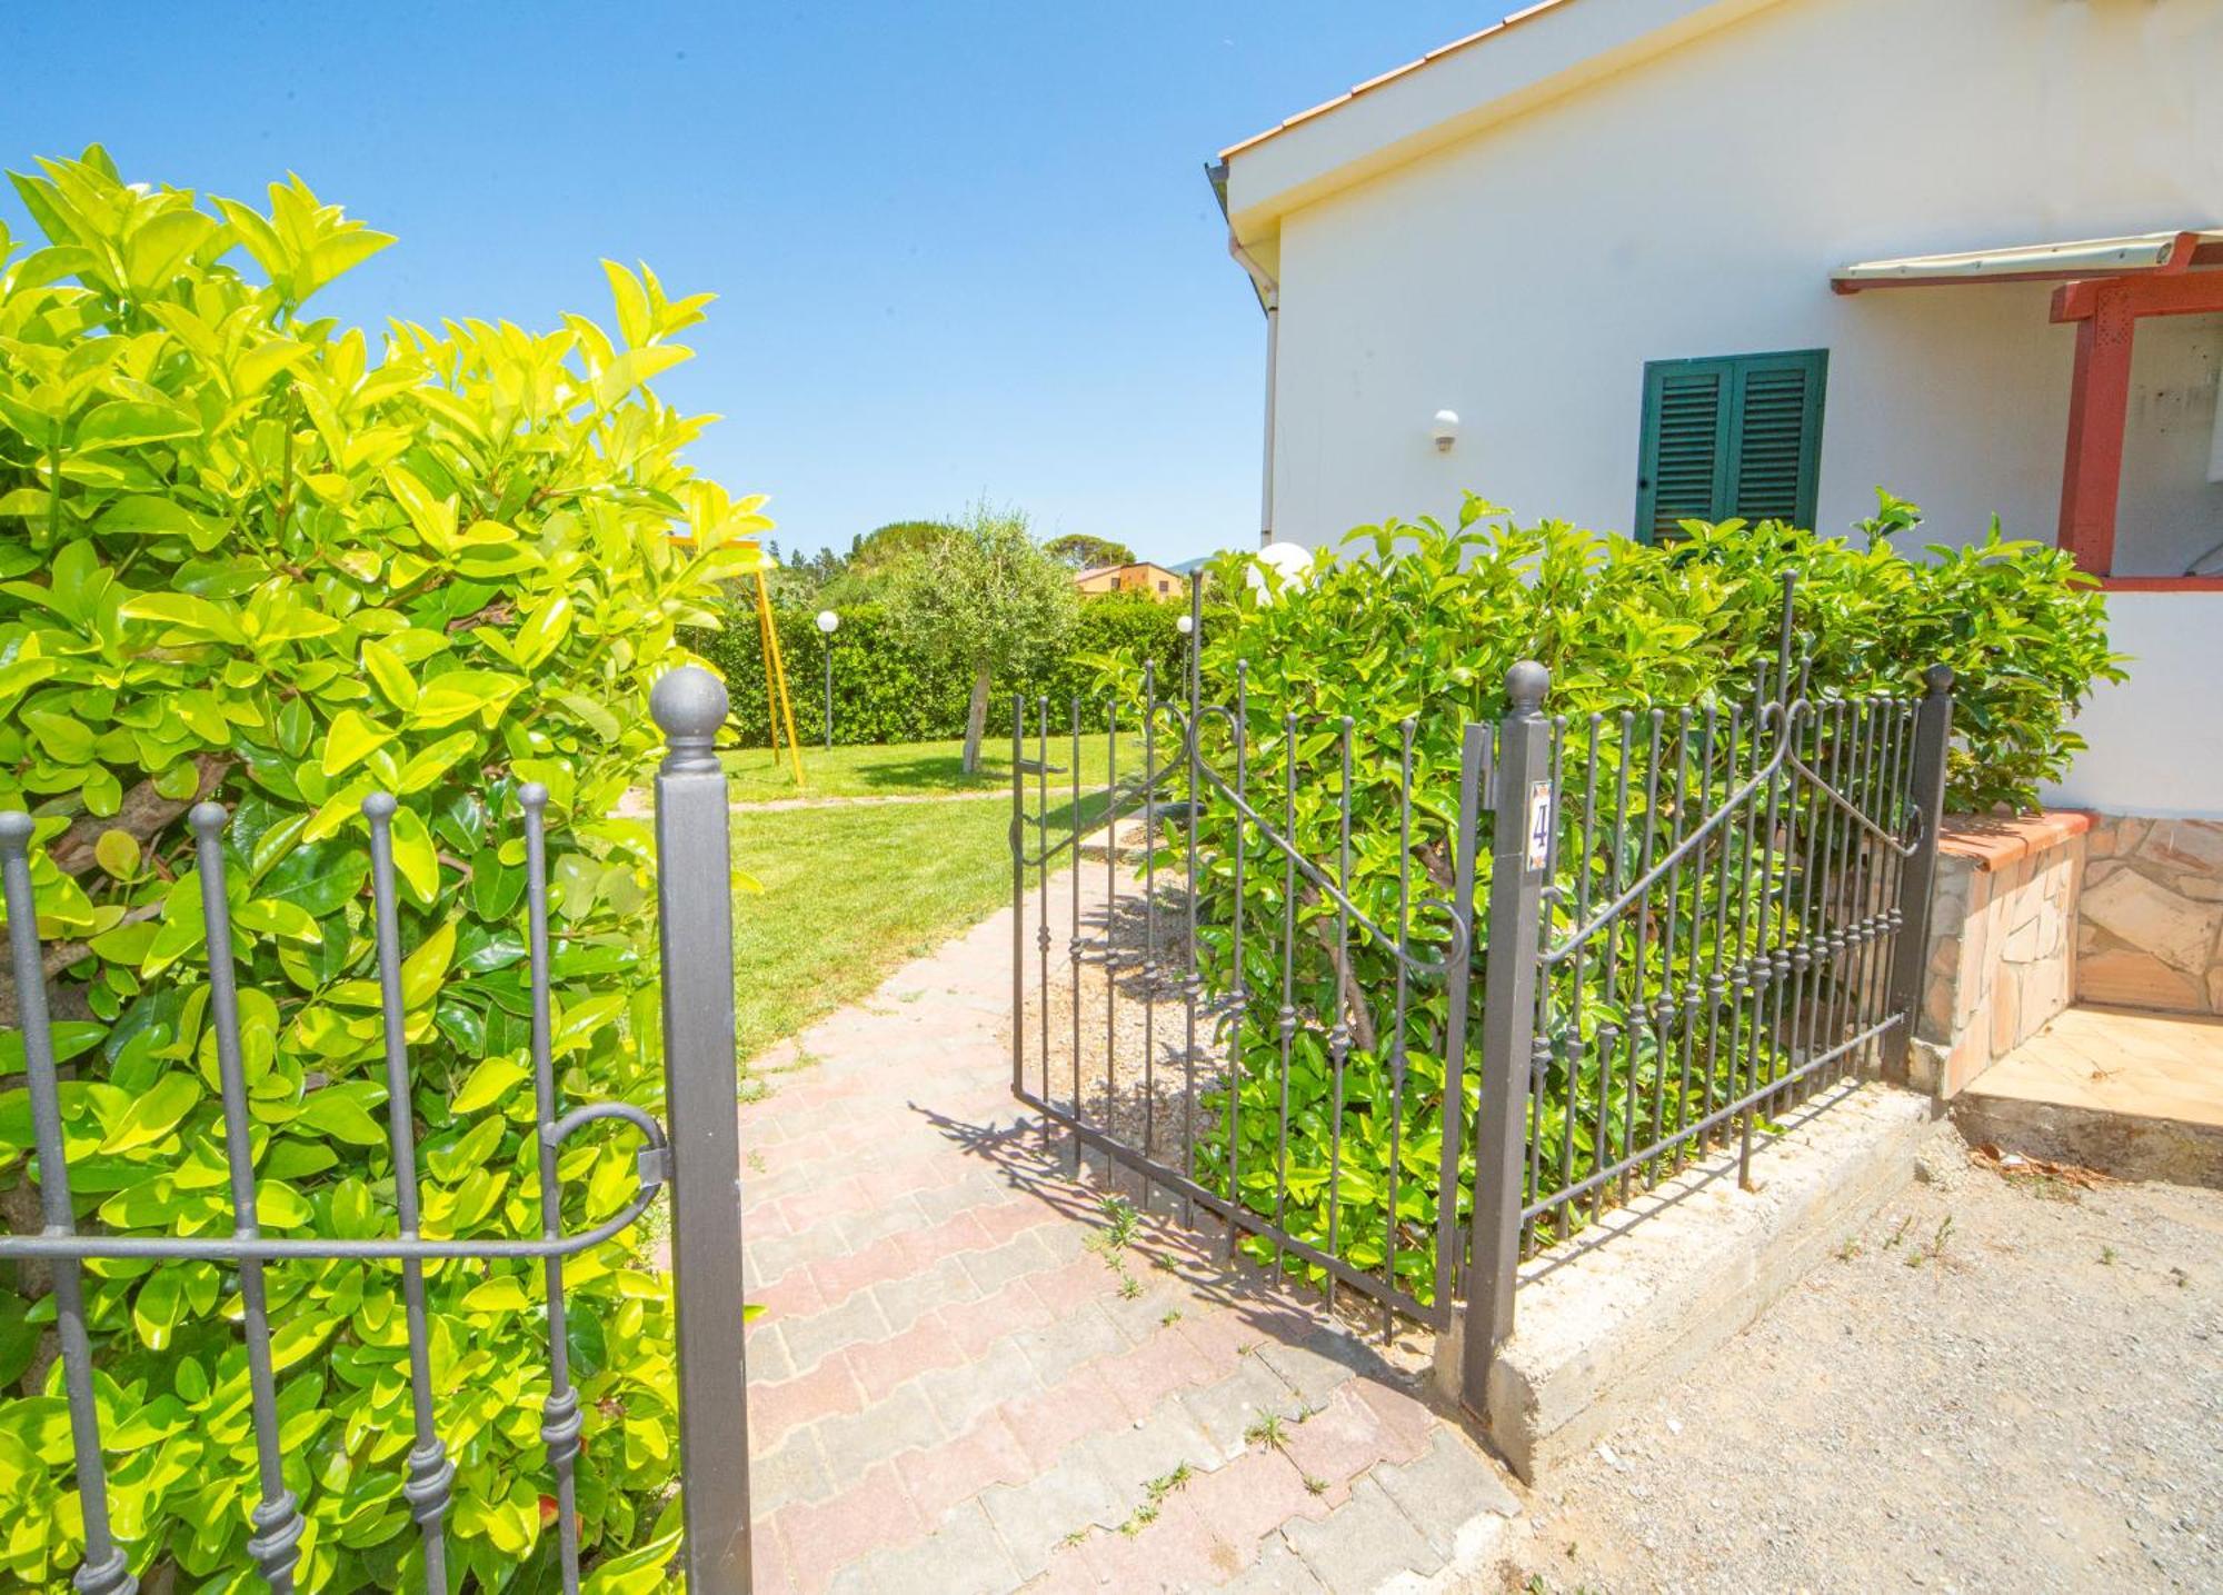
[[2099, 815], [2085, 857], [2076, 1000], [2223, 1013], [2223, 820]]

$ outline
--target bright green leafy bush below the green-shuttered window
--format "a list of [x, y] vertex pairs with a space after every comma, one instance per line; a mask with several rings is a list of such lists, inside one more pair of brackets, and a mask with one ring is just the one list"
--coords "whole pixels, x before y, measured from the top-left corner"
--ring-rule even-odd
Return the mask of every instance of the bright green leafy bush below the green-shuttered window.
[[[1894, 502], [1887, 502], [1887, 509]], [[1903, 511], [1907, 506], [1901, 506]], [[1898, 515], [1903, 524], [1907, 515]], [[1876, 529], [1881, 531], [1881, 526]], [[1234, 704], [1238, 671], [1247, 700], [1249, 800], [1274, 824], [1289, 802], [1287, 715], [1298, 715], [1294, 837], [1303, 857], [1334, 871], [1338, 855], [1340, 751], [1336, 722], [1352, 720], [1352, 886], [1356, 906], [1380, 926], [1398, 924], [1398, 877], [1412, 897], [1452, 895], [1452, 829], [1458, 804], [1461, 731], [1505, 713], [1505, 671], [1523, 658], [1552, 671], [1547, 713], [1581, 722], [1623, 709], [1750, 702], [1754, 675], [1774, 662], [1783, 575], [1798, 575], [1794, 651], [1807, 662], [1810, 695], [1921, 693], [1932, 664], [1956, 671], [1954, 749], [1947, 806], [2025, 806], [2058, 778], [2081, 740], [2070, 729], [2094, 680], [2119, 678], [2107, 653], [2105, 611], [2067, 555], [2005, 542], [1996, 526], [1967, 549], [1932, 549], [1907, 560], [1885, 535], [1867, 546], [1776, 524], [1692, 524], [1672, 546], [1598, 540], [1561, 522], [1516, 526], [1469, 500], [1456, 531], [1436, 522], [1363, 526], [1349, 538], [1367, 558], [1323, 553], [1303, 584], [1247, 582], [1247, 562], [1223, 562], [1207, 589], [1205, 702]], [[1414, 722], [1414, 846], [1398, 846], [1400, 722]], [[1205, 724], [1207, 755], [1232, 773], [1218, 722]], [[1603, 760], [1621, 751], [1607, 738]], [[1725, 791], [1725, 760], [1694, 778], [1694, 793]], [[1612, 780], [1612, 764], [1607, 764]], [[1638, 793], [1641, 795], [1641, 793]], [[1243, 1024], [1240, 1113], [1245, 1197], [1274, 1211], [1278, 1157], [1283, 855], [1245, 829], [1245, 969], [1232, 966], [1234, 813], [1207, 795], [1198, 915], [1205, 984], [1214, 995], [1249, 993]], [[1563, 811], [1565, 817], [1565, 811]], [[1478, 873], [1487, 886], [1489, 815]], [[1572, 857], [1572, 849], [1567, 849]], [[1169, 857], [1180, 864], [1178, 853]], [[1627, 877], [1634, 871], [1627, 871]], [[1761, 884], [1781, 871], [1761, 871]], [[1481, 893], [1478, 909], [1487, 904]], [[1292, 1226], [1325, 1244], [1332, 1086], [1325, 1031], [1336, 1022], [1336, 975], [1327, 940], [1334, 904], [1300, 886], [1294, 1006], [1289, 1195]], [[1412, 937], [1423, 955], [1447, 940], [1441, 911], [1416, 906]], [[1476, 937], [1487, 942], [1487, 926]], [[1345, 1084], [1340, 1244], [1363, 1266], [1385, 1257], [1389, 1200], [1389, 1031], [1394, 962], [1354, 933], [1352, 982], [1367, 1015]], [[1476, 993], [1481, 977], [1476, 977]], [[1445, 991], [1409, 984], [1407, 1080], [1398, 1146], [1400, 1284], [1429, 1293], [1427, 1237], [1436, 1222], [1443, 1124]], [[1349, 1009], [1345, 1009], [1349, 1011]], [[1372, 1033], [1369, 1033], [1372, 1031]], [[1469, 1029], [1478, 1046], [1481, 1029]], [[1372, 1042], [1372, 1044], [1369, 1044]], [[1472, 1062], [1472, 1060], [1469, 1060]], [[1476, 1071], [1467, 1075], [1467, 1122]], [[1567, 1082], [1549, 1089], [1563, 1109]], [[1225, 1097], [1214, 1102], [1225, 1113]], [[1552, 1135], [1556, 1142], [1556, 1133]], [[1225, 1135], [1200, 1148], [1205, 1171], [1227, 1180]], [[1576, 1180], [1598, 1148], [1556, 1171]], [[1609, 1155], [1618, 1146], [1603, 1148]], [[1472, 1168], [1472, 1162], [1469, 1162]], [[1547, 1171], [1554, 1173], [1554, 1171]], [[1556, 1180], [1547, 1180], [1556, 1184]], [[1260, 1246], [1263, 1251], [1263, 1246]]]

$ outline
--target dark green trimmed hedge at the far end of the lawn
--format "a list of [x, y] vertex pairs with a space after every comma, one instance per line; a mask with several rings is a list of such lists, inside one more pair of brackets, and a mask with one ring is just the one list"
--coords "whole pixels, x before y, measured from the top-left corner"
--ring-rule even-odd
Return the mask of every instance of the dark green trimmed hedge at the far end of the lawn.
[[[1096, 695], [1098, 666], [1105, 655], [1120, 655], [1140, 669], [1154, 660], [1160, 682], [1180, 673], [1183, 609], [1160, 604], [1143, 593], [1116, 593], [1080, 604], [1071, 642], [1058, 664], [1020, 680], [998, 680], [989, 711], [989, 738], [1007, 735], [1011, 695], [1047, 693], [1056, 724], [1071, 724], [1071, 698]], [[796, 709], [796, 735], [805, 744], [825, 740], [825, 638], [818, 635], [816, 611], [776, 611], [780, 658], [787, 662], [787, 691]], [[725, 629], [698, 633], [694, 646], [718, 666], [734, 700], [731, 735], [751, 749], [769, 746], [771, 706], [765, 693], [765, 660], [758, 646], [754, 606], [731, 604]], [[927, 742], [965, 735], [965, 700], [971, 678], [963, 669], [934, 666], [903, 646], [887, 611], [860, 604], [840, 611], [834, 633], [834, 740], [856, 742]], [[1172, 691], [1172, 686], [1167, 686]], [[1100, 729], [1103, 711], [1087, 715], [1089, 729]]]

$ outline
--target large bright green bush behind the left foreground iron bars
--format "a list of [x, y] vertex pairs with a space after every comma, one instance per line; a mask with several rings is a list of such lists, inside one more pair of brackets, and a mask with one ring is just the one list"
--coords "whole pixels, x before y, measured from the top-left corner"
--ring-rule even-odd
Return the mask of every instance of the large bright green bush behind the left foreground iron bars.
[[[102, 151], [16, 189], [49, 242], [0, 238], [0, 804], [29, 806], [53, 942], [80, 1220], [231, 1224], [189, 802], [233, 811], [245, 1057], [262, 1222], [389, 1235], [391, 1166], [358, 804], [393, 820], [409, 951], [425, 1231], [540, 1224], [514, 791], [554, 793], [556, 1057], [567, 1102], [660, 1095], [649, 835], [611, 817], [642, 773], [649, 678], [765, 522], [696, 480], [700, 422], [645, 382], [700, 298], [609, 267], [618, 335], [571, 315], [396, 327], [385, 349], [302, 302], [389, 238], [298, 180], [269, 215], [127, 187]], [[694, 544], [674, 544], [685, 524]], [[13, 993], [9, 993], [13, 995]], [[13, 1020], [13, 1013], [4, 1015]], [[24, 1197], [18, 1060], [0, 1186]], [[4, 1064], [0, 1064], [4, 1066]], [[634, 1146], [562, 1160], [571, 1226], [634, 1188]], [[89, 1266], [111, 1511], [133, 1564], [247, 1588], [247, 1371], [229, 1271]], [[0, 1291], [0, 1582], [60, 1588], [78, 1553], [51, 1297]], [[431, 1357], [456, 1459], [451, 1566], [485, 1588], [554, 1553], [538, 1266], [431, 1268]], [[582, 1537], [651, 1535], [671, 1482], [665, 1288], [620, 1242], [569, 1264], [587, 1442]], [[398, 1273], [269, 1271], [302, 1588], [416, 1575]], [[33, 1373], [33, 1362], [44, 1371]], [[651, 1557], [654, 1564], [654, 1557]], [[654, 1566], [605, 1571], [647, 1588]]]

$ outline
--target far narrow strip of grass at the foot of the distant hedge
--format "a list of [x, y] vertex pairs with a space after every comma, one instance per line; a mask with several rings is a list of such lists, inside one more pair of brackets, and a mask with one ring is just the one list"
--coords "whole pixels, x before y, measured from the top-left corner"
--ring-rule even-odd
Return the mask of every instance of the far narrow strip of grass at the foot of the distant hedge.
[[[1009, 706], [1005, 706], [1009, 715]], [[1167, 758], [1160, 738], [1158, 758]], [[1080, 784], [1103, 786], [1109, 769], [1112, 740], [1096, 733], [1080, 738]], [[1036, 758], [1034, 738], [1027, 738], [1027, 758]], [[1051, 802], [1071, 800], [1074, 793], [1074, 738], [1071, 733], [1049, 733], [1049, 762], [1063, 766], [1049, 778]], [[1143, 769], [1143, 742], [1129, 726], [1118, 738], [1118, 762], [1123, 775]], [[989, 726], [980, 744], [980, 769], [965, 773], [965, 742], [889, 742], [885, 746], [820, 746], [803, 749], [803, 789], [796, 791], [794, 766], [787, 753], [778, 758], [769, 749], [738, 749], [725, 755], [725, 773], [734, 802], [774, 802], [780, 798], [947, 798], [969, 791], [1011, 791], [1011, 726], [1000, 731]], [[1034, 802], [1034, 778], [1027, 782], [1027, 798]]]

